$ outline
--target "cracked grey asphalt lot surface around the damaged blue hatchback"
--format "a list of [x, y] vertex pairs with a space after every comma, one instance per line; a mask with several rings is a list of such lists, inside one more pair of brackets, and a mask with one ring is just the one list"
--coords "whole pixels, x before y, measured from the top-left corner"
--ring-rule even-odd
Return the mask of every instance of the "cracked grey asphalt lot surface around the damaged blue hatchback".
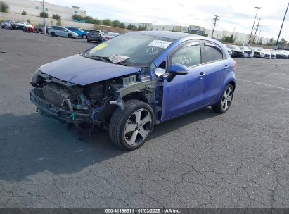
[[288, 208], [289, 60], [236, 59], [227, 113], [157, 125], [124, 152], [29, 99], [37, 68], [93, 45], [0, 29], [0, 208]]

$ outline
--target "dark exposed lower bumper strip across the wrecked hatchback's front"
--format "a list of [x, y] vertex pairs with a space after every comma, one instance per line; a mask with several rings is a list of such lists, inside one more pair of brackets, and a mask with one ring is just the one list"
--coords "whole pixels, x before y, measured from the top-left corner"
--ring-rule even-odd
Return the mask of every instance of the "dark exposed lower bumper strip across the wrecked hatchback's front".
[[32, 90], [30, 92], [30, 100], [37, 106], [37, 109], [43, 115], [49, 116], [51, 118], [56, 118], [62, 122], [69, 122], [74, 124], [80, 124], [91, 121], [91, 113], [87, 111], [87, 113], [79, 112], [79, 111], [68, 111], [63, 108], [57, 108], [53, 106], [51, 103], [41, 99], [37, 94]]

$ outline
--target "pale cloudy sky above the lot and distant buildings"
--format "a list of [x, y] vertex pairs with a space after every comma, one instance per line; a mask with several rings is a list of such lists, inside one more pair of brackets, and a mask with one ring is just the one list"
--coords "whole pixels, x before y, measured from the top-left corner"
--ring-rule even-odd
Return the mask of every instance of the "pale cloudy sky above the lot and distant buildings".
[[[218, 1], [165, 1], [165, 0], [46, 0], [62, 6], [80, 6], [94, 18], [118, 19], [131, 23], [164, 25], [200, 25], [212, 28], [212, 18], [219, 15], [216, 30], [250, 33], [255, 18], [255, 6], [263, 7], [257, 18], [262, 18], [263, 37], [278, 36], [288, 0], [218, 0]], [[281, 37], [289, 41], [289, 12]]]

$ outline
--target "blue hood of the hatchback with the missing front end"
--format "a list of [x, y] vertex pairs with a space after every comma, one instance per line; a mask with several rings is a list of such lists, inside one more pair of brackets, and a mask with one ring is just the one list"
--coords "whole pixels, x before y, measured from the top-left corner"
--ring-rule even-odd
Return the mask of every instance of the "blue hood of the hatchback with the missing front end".
[[86, 85], [136, 73], [140, 68], [105, 63], [75, 55], [43, 65], [39, 70], [66, 82]]

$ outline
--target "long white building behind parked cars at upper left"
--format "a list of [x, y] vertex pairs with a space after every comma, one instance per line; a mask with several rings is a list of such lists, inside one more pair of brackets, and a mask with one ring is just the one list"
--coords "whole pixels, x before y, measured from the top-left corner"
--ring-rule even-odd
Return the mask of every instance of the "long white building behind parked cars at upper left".
[[[42, 1], [30, 1], [30, 0], [4, 0], [9, 5], [10, 13], [22, 13], [27, 12], [27, 15], [39, 16], [43, 11]], [[62, 20], [72, 20], [72, 15], [82, 15], [86, 16], [86, 11], [80, 10], [77, 6], [58, 6], [55, 4], [50, 4], [45, 1], [44, 11], [49, 14], [49, 18], [53, 14], [58, 14], [61, 16]]]

